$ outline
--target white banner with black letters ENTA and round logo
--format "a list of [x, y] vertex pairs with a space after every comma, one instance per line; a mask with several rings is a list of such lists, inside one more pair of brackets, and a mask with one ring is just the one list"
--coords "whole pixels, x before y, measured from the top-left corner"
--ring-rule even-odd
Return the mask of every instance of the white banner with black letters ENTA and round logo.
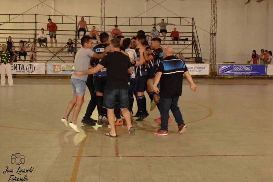
[[45, 63], [34, 62], [14, 62], [12, 64], [12, 74], [45, 74]]

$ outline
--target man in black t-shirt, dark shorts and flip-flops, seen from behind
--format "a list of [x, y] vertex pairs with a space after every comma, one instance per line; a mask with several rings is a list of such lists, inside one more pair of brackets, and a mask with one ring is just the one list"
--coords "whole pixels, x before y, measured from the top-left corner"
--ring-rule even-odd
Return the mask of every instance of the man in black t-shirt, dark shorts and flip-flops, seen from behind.
[[76, 72], [77, 76], [94, 74], [99, 70], [107, 67], [107, 81], [104, 91], [103, 107], [107, 108], [108, 120], [111, 131], [106, 136], [116, 137], [115, 130], [115, 114], [114, 108], [116, 100], [121, 109], [123, 116], [127, 122], [127, 128], [130, 135], [134, 135], [135, 128], [132, 127], [130, 111], [127, 109], [129, 104], [128, 89], [129, 77], [128, 73], [132, 73], [130, 58], [120, 52], [120, 40], [114, 38], [110, 42], [111, 54], [106, 55], [95, 68], [87, 71]]

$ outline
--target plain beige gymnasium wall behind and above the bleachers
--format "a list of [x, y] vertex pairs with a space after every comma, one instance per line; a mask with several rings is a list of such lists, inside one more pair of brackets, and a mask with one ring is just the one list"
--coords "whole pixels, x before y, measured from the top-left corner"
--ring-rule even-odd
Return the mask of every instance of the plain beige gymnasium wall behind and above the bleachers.
[[[154, 0], [157, 3], [163, 0]], [[173, 13], [181, 17], [194, 17], [198, 36], [202, 48], [202, 56], [205, 60], [209, 60], [210, 52], [210, 15], [211, 1], [210, 0], [166, 0], [161, 5], [157, 5], [153, 0], [106, 0], [106, 16], [107, 17], [154, 17], [154, 16], [172, 16]], [[248, 5], [245, 5], [246, 0], [218, 0], [217, 9], [217, 62], [236, 61], [236, 63], [246, 63], [251, 56], [252, 50], [259, 52], [260, 49], [273, 49], [273, 39], [270, 32], [273, 30], [271, 23], [273, 17], [272, 0], [264, 0], [260, 3], [252, 0]], [[6, 1], [5, 6], [1, 6], [1, 14], [20, 14], [27, 9], [38, 5], [40, 1], [33, 0], [14, 0]], [[47, 0], [45, 4], [53, 7], [65, 15], [79, 16], [100, 16], [100, 0]], [[156, 7], [154, 7], [157, 5]], [[173, 13], [172, 13], [173, 12]], [[44, 4], [40, 4], [25, 14], [45, 14], [45, 15], [60, 15]], [[38, 21], [46, 22], [48, 17], [38, 17]], [[25, 17], [27, 19], [27, 17]], [[0, 16], [0, 21], [8, 20], [7, 17]], [[68, 18], [63, 19], [64, 22], [74, 22]], [[16, 21], [16, 19], [14, 19]], [[34, 21], [30, 19], [30, 21]], [[54, 17], [53, 21], [61, 21], [60, 18]], [[126, 19], [119, 19], [118, 24], [126, 22]], [[114, 24], [114, 19], [106, 19], [106, 24]], [[140, 19], [133, 19], [131, 24], [140, 22]], [[160, 22], [160, 19], [157, 20]], [[170, 23], [178, 23], [178, 19], [169, 19]], [[187, 24], [186, 21], [183, 21]], [[91, 24], [99, 24], [100, 19], [91, 19]], [[152, 24], [153, 19], [143, 20], [143, 23]], [[124, 25], [128, 25], [128, 22]], [[46, 24], [38, 24], [38, 28], [45, 27]], [[1, 25], [0, 29], [17, 28], [33, 29], [33, 24], [12, 24], [7, 23]], [[58, 25], [59, 29], [75, 29], [75, 25]], [[177, 29], [185, 32], [189, 27], [179, 27]], [[91, 26], [89, 26], [91, 28]], [[100, 27], [97, 26], [99, 29]], [[122, 31], [137, 31], [143, 29], [149, 31], [152, 26], [120, 26]], [[168, 31], [172, 31], [174, 26], [168, 26]], [[106, 26], [106, 30], [111, 30], [112, 27]], [[207, 32], [206, 32], [207, 31]], [[60, 39], [60, 37], [59, 37]], [[66, 40], [62, 41], [65, 42]], [[2, 42], [2, 41], [1, 41]], [[206, 61], [208, 62], [208, 61]]]

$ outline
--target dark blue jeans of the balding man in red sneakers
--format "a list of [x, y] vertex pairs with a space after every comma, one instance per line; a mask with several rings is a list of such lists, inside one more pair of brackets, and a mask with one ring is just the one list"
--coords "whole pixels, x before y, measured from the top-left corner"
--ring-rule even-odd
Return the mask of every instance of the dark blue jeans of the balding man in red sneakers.
[[172, 111], [175, 118], [175, 122], [177, 122], [178, 126], [184, 123], [182, 114], [179, 110], [179, 107], [177, 106], [178, 99], [179, 97], [171, 97], [171, 98], [160, 97], [160, 116], [161, 116], [160, 130], [168, 131], [168, 120], [169, 120], [170, 110]]

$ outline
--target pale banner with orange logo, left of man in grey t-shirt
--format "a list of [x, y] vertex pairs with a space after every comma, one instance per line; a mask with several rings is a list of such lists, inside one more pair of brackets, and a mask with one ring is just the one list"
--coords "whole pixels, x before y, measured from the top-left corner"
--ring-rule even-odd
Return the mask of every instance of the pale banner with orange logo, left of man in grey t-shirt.
[[74, 63], [47, 63], [46, 74], [48, 75], [72, 75]]

